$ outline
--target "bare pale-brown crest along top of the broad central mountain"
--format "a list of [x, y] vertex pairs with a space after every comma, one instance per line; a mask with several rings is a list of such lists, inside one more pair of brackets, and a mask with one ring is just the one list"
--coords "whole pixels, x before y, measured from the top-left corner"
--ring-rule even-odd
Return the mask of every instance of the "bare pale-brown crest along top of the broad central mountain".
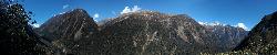
[[[130, 16], [143, 16], [143, 18], [130, 18]], [[191, 16], [188, 16], [187, 14], [170, 14], [170, 13], [162, 13], [158, 11], [146, 11], [146, 10], [142, 10], [142, 11], [136, 11], [136, 12], [129, 12], [129, 13], [123, 13], [116, 18], [112, 18], [110, 19], [110, 21], [122, 21], [125, 19], [143, 19], [143, 20], [152, 20], [152, 19], [191, 19], [193, 20]], [[107, 21], [107, 22], [110, 22]]]

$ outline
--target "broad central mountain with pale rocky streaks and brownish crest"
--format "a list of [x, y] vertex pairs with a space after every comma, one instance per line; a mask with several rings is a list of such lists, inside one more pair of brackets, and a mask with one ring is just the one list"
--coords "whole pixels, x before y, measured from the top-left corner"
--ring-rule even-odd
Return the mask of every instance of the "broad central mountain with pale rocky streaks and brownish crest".
[[[107, 21], [100, 34], [102, 54], [198, 54], [205, 30], [186, 15], [135, 12]], [[205, 50], [207, 48], [207, 50]]]

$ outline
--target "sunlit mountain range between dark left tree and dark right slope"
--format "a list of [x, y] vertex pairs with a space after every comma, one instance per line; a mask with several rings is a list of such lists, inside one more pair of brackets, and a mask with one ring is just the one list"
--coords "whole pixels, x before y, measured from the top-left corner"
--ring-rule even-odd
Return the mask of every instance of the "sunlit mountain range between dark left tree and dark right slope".
[[96, 24], [82, 9], [55, 15], [35, 30], [64, 54], [199, 54], [232, 51], [248, 33], [202, 25], [186, 14], [125, 13]]

